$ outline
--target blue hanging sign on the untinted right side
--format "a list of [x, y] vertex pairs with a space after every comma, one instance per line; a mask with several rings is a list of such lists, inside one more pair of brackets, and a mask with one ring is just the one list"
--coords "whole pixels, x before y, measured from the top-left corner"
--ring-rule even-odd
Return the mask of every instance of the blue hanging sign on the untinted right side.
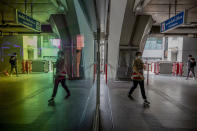
[[180, 12], [179, 14], [171, 17], [170, 19], [161, 23], [160, 31], [166, 32], [168, 30], [174, 29], [182, 24], [184, 24], [185, 12]]

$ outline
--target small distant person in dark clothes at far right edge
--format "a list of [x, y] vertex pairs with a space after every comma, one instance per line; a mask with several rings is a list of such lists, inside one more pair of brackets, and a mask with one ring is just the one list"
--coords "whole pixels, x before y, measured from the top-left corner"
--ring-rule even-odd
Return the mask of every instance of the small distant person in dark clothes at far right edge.
[[193, 77], [194, 77], [194, 80], [195, 80], [195, 71], [194, 71], [195, 66], [196, 66], [195, 58], [192, 58], [192, 55], [189, 55], [188, 56], [188, 61], [187, 61], [188, 72], [187, 72], [186, 80], [188, 80], [188, 78], [190, 76], [190, 72], [193, 74]]

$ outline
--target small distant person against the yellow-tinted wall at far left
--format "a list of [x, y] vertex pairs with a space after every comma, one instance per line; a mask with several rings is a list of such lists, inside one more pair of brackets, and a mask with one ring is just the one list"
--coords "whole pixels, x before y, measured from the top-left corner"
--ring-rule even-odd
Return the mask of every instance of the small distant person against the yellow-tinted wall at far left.
[[13, 70], [16, 72], [16, 76], [18, 76], [18, 70], [17, 70], [17, 54], [13, 53], [13, 55], [10, 57], [10, 65], [11, 65], [11, 71], [10, 76], [12, 76]]

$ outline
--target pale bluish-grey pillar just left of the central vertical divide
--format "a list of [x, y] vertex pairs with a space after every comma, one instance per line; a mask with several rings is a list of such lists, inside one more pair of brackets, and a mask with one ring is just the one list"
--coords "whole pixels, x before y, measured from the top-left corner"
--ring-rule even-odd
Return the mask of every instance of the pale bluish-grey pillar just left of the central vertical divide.
[[84, 77], [86, 79], [93, 79], [93, 70], [94, 70], [94, 56], [96, 53], [94, 45], [94, 35], [89, 25], [88, 19], [80, 6], [78, 0], [74, 0], [77, 20], [79, 23], [80, 34], [84, 36], [84, 48], [82, 48], [82, 59], [83, 59], [83, 71]]

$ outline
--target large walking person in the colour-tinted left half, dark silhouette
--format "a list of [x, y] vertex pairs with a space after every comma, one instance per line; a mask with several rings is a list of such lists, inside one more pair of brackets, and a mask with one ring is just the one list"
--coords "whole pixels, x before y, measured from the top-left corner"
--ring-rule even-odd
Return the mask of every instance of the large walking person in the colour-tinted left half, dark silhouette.
[[56, 74], [55, 74], [53, 94], [52, 94], [51, 99], [48, 100], [48, 102], [54, 101], [54, 98], [57, 94], [59, 83], [62, 84], [62, 87], [67, 92], [67, 95], [65, 96], [65, 99], [70, 97], [70, 91], [69, 91], [69, 89], [66, 85], [66, 76], [67, 76], [67, 67], [65, 65], [64, 53], [63, 53], [63, 51], [59, 51], [58, 52], [58, 58], [57, 58], [57, 61], [56, 61]]

